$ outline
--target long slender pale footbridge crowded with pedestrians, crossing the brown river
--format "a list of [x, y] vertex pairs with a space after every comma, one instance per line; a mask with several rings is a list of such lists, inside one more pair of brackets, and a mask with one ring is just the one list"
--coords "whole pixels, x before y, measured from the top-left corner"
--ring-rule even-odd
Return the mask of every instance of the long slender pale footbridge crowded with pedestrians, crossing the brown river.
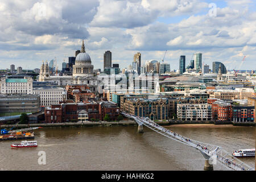
[[254, 168], [243, 163], [241, 160], [235, 158], [233, 155], [230, 155], [220, 146], [214, 146], [212, 144], [199, 142], [190, 138], [183, 137], [174, 131], [168, 130], [162, 126], [159, 126], [154, 121], [151, 121], [149, 118], [138, 117], [135, 115], [127, 114], [122, 112], [125, 117], [134, 119], [138, 123], [138, 132], [143, 132], [143, 125], [149, 129], [156, 131], [157, 133], [168, 137], [177, 142], [186, 144], [197, 150], [200, 150], [201, 154], [205, 158], [204, 170], [212, 171], [213, 164], [217, 162], [225, 166], [226, 168], [235, 170], [235, 171], [254, 171]]

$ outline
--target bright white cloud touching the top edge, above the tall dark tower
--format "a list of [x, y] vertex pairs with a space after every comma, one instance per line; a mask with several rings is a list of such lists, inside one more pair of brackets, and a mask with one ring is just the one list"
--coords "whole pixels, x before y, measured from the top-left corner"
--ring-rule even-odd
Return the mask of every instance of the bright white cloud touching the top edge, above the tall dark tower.
[[97, 9], [90, 26], [133, 28], [157, 18], [154, 11], [145, 9], [140, 2], [100, 0]]

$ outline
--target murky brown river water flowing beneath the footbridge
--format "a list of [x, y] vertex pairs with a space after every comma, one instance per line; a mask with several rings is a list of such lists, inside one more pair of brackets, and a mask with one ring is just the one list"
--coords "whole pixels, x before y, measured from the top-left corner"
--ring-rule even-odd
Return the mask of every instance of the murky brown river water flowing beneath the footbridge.
[[[201, 125], [198, 125], [201, 126]], [[171, 126], [172, 131], [233, 150], [255, 148], [255, 127]], [[16, 141], [0, 142], [0, 170], [203, 170], [199, 150], [144, 127], [67, 127], [35, 130], [38, 147], [12, 149]], [[46, 152], [46, 165], [38, 152]], [[254, 167], [254, 158], [242, 158]], [[220, 164], [214, 170], [229, 170]]]

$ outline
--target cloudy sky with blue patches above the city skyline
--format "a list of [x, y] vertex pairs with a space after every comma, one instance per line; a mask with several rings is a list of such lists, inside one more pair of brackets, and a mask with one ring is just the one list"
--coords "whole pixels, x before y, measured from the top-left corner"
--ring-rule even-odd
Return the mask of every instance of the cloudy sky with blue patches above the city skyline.
[[[216, 7], [216, 8], [215, 8]], [[103, 54], [127, 68], [133, 55], [162, 60], [177, 69], [202, 52], [204, 64], [222, 61], [228, 69], [256, 69], [254, 0], [1, 0], [0, 69], [11, 64], [40, 68], [42, 60], [61, 63], [85, 49], [94, 68]]]

